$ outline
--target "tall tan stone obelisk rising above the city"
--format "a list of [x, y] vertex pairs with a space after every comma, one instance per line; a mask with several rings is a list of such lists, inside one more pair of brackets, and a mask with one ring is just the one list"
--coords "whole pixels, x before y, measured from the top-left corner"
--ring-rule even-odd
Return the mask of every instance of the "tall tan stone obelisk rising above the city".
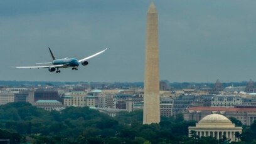
[[159, 123], [158, 14], [154, 3], [147, 11], [145, 57], [143, 124]]

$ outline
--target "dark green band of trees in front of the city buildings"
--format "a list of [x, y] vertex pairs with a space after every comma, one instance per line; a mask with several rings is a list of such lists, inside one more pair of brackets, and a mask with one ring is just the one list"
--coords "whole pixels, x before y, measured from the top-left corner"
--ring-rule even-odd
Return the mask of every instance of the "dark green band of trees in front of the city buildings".
[[[236, 125], [242, 123], [230, 118]], [[122, 112], [112, 118], [88, 107], [68, 107], [61, 112], [45, 111], [29, 103], [0, 106], [0, 139], [11, 143], [227, 143], [211, 137], [188, 138], [188, 126], [182, 115], [161, 118], [159, 124], [142, 125], [142, 111]], [[243, 126], [239, 143], [256, 143], [256, 122]], [[233, 142], [234, 143], [234, 142]]]

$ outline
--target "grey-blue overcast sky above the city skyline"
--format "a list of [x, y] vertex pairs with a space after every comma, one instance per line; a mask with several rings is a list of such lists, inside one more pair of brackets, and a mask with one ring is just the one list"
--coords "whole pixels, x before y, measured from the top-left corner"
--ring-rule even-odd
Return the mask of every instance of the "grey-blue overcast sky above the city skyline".
[[[0, 80], [144, 81], [150, 0], [0, 1]], [[161, 0], [160, 79], [170, 82], [256, 80], [255, 0]], [[78, 71], [14, 69], [56, 58], [81, 59]]]

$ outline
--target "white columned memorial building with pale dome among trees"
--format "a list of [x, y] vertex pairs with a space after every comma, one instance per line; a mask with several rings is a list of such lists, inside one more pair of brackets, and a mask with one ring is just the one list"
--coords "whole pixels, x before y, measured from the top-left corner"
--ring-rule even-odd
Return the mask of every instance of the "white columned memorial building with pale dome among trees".
[[235, 126], [226, 116], [211, 114], [196, 123], [196, 126], [188, 127], [189, 137], [191, 131], [196, 131], [196, 134], [200, 137], [212, 136], [216, 140], [220, 140], [225, 135], [231, 141], [235, 141], [235, 132], [242, 133], [242, 127]]

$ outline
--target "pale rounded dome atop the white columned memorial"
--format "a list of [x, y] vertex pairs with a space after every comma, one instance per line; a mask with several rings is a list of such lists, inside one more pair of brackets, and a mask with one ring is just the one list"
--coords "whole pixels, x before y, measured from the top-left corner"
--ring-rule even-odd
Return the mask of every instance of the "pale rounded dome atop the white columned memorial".
[[232, 121], [228, 120], [226, 116], [219, 115], [219, 114], [211, 114], [208, 116], [205, 116], [202, 120], [200, 120], [198, 123], [196, 123], [197, 127], [229, 127], [233, 128], [235, 125], [232, 123]]

